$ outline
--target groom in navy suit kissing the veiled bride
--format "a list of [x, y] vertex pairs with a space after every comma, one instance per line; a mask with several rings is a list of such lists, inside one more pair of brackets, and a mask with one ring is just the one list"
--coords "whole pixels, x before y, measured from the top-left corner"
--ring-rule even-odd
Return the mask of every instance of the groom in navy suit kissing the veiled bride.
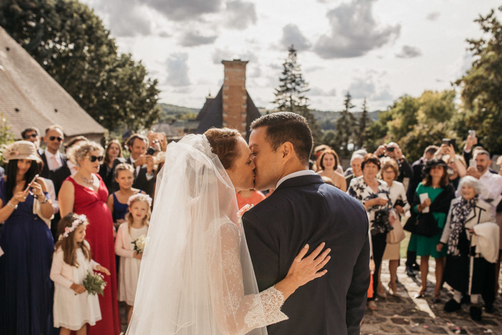
[[260, 291], [288, 273], [305, 244], [331, 248], [327, 274], [293, 293], [282, 307], [289, 319], [272, 335], [359, 334], [369, 287], [368, 220], [364, 208], [308, 170], [312, 132], [307, 120], [273, 113], [251, 125], [255, 188], [274, 193], [242, 217]]

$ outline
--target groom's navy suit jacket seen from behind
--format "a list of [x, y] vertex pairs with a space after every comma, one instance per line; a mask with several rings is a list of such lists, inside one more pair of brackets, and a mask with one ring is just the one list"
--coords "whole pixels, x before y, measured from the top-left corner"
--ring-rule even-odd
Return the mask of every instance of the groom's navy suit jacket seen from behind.
[[331, 248], [328, 272], [298, 288], [284, 303], [289, 319], [269, 334], [359, 334], [369, 287], [368, 219], [362, 205], [319, 175], [285, 180], [242, 217], [258, 288], [286, 277], [300, 250]]

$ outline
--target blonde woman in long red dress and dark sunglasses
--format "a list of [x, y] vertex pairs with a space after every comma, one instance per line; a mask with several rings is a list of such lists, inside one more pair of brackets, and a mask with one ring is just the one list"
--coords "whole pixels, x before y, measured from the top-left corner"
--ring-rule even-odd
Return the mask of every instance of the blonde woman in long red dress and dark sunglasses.
[[69, 212], [85, 214], [89, 220], [86, 240], [90, 244], [92, 259], [110, 270], [104, 275], [107, 285], [104, 296], [99, 296], [102, 319], [89, 327], [89, 334], [118, 334], [117, 284], [115, 250], [113, 243], [113, 220], [106, 205], [108, 191], [97, 174], [102, 161], [103, 148], [95, 142], [83, 142], [71, 149], [69, 158], [79, 167], [73, 177], [68, 177], [59, 191], [61, 216]]

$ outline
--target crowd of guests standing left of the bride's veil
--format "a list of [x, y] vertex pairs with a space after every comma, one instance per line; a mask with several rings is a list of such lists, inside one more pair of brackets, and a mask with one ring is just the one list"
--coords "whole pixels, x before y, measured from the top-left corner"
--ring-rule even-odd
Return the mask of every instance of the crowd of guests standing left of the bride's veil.
[[[4, 151], [0, 170], [0, 333], [118, 334], [129, 322], [165, 135], [133, 134], [124, 148], [57, 125], [31, 127]], [[63, 143], [65, 145], [63, 146]], [[100, 273], [102, 295], [83, 281]]]

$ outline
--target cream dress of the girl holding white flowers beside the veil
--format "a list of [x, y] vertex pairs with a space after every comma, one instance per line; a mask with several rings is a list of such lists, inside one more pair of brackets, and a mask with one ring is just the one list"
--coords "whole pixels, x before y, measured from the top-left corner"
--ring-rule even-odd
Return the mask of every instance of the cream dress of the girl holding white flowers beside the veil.
[[117, 230], [115, 238], [115, 254], [120, 256], [118, 266], [118, 301], [124, 301], [129, 306], [134, 305], [138, 277], [140, 276], [141, 260], [134, 258], [133, 242], [140, 236], [147, 236], [148, 226], [140, 229], [131, 227], [131, 234], [127, 222], [123, 222]]

